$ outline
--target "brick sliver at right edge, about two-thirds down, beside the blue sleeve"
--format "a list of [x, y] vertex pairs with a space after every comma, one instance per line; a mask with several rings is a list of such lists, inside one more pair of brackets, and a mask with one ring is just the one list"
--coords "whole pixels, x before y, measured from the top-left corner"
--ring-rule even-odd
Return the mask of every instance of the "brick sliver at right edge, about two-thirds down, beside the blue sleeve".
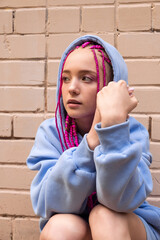
[[152, 153], [153, 162], [151, 168], [160, 168], [160, 143], [159, 142], [151, 142], [150, 143], [150, 151]]

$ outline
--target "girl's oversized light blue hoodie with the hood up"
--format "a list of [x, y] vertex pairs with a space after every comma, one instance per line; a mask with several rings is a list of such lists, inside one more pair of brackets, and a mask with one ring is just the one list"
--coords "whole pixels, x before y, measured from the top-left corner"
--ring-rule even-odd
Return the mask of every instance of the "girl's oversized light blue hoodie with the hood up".
[[[72, 49], [85, 41], [103, 46], [112, 63], [113, 80], [127, 82], [127, 67], [119, 52], [101, 38], [86, 35], [71, 43], [62, 56], [57, 100], [63, 62]], [[61, 108], [64, 123], [62, 101]], [[117, 212], [134, 211], [160, 231], [160, 209], [145, 201], [152, 191], [147, 130], [133, 117], [107, 128], [101, 128], [99, 123], [95, 129], [100, 145], [94, 151], [89, 149], [86, 135], [78, 135], [79, 146], [63, 152], [55, 118], [40, 125], [27, 159], [28, 167], [38, 170], [31, 184], [31, 200], [41, 217], [40, 229], [56, 213], [86, 213], [87, 199], [96, 192], [99, 203]]]

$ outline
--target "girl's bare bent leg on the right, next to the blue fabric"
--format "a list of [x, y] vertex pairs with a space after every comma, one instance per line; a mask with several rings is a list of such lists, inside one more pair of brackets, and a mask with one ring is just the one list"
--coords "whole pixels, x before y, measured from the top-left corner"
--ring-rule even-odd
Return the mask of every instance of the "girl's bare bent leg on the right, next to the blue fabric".
[[142, 221], [134, 213], [119, 213], [102, 205], [89, 216], [93, 240], [146, 240]]

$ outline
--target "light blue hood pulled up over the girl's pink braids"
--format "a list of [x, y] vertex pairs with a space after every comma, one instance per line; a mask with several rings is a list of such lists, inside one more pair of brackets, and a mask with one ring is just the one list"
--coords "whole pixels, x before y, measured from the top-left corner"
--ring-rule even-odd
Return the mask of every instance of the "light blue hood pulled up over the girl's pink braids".
[[113, 47], [112, 45], [110, 45], [109, 43], [105, 42], [103, 39], [95, 35], [85, 35], [74, 40], [64, 51], [60, 61], [59, 72], [58, 72], [57, 93], [56, 93], [56, 101], [58, 103], [56, 108], [56, 125], [57, 125], [57, 130], [59, 132], [60, 139], [64, 138], [64, 131], [65, 131], [64, 130], [65, 109], [63, 106], [62, 96], [61, 96], [61, 84], [62, 84], [61, 73], [62, 73], [63, 65], [68, 54], [72, 50], [74, 50], [77, 46], [81, 46], [85, 42], [94, 42], [94, 43], [97, 43], [98, 45], [101, 45], [104, 48], [104, 51], [106, 52], [106, 54], [108, 55], [111, 61], [112, 70], [113, 70], [113, 81], [118, 82], [119, 80], [125, 80], [128, 83], [128, 71], [127, 71], [126, 63], [124, 62], [123, 57], [120, 55], [120, 53], [117, 51], [115, 47]]

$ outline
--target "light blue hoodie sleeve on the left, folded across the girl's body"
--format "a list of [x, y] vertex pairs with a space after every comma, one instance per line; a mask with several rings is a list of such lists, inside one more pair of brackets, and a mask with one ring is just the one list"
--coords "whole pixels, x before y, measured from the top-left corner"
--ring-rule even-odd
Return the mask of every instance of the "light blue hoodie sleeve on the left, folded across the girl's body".
[[47, 219], [54, 213], [82, 213], [87, 197], [95, 191], [96, 176], [93, 152], [86, 137], [78, 147], [62, 153], [50, 121], [44, 121], [39, 127], [27, 159], [28, 167], [38, 170], [31, 184], [33, 209]]

